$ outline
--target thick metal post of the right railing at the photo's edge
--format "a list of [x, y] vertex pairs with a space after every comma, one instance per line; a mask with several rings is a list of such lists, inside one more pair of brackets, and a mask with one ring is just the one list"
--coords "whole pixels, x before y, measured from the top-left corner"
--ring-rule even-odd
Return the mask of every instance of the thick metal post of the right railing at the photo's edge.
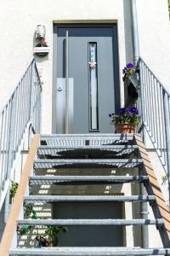
[[170, 111], [167, 92], [163, 95], [163, 108], [164, 108], [164, 119], [165, 119], [165, 135], [166, 135], [166, 146], [167, 146], [167, 181], [168, 181], [168, 194], [169, 194], [169, 208], [170, 208]]

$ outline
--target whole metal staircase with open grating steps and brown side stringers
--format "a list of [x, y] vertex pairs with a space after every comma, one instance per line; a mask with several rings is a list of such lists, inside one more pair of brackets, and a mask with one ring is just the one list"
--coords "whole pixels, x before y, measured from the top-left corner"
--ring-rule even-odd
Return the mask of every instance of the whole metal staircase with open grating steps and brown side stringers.
[[[147, 193], [125, 195], [124, 191], [127, 191], [123, 190], [125, 184], [129, 188], [135, 184], [136, 190], [141, 190], [141, 186], [144, 186]], [[107, 193], [99, 191], [99, 186], [108, 185], [110, 189], [106, 191]], [[121, 189], [117, 189], [117, 185], [121, 185], [118, 187]], [[89, 189], [90, 186], [93, 186], [93, 189]], [[51, 187], [53, 189], [50, 190]], [[79, 218], [53, 218], [55, 212], [51, 215], [52, 218], [40, 216], [37, 219], [24, 218], [24, 206], [27, 203], [43, 208], [47, 203], [56, 202], [70, 203], [75, 206], [77, 203], [83, 205], [99, 202], [101, 207], [105, 202], [122, 202], [124, 206], [130, 202], [129, 207], [133, 208], [133, 212], [135, 212], [136, 204], [139, 209], [139, 204], [148, 202], [155, 218], [149, 219], [146, 215], [146, 218], [141, 218], [143, 215], [139, 214], [139, 218], [128, 219], [126, 211], [125, 218], [107, 218], [107, 214], [105, 214], [106, 218], [82, 218], [81, 216]], [[51, 209], [53, 210], [53, 207]], [[67, 213], [69, 216], [69, 212]], [[96, 216], [99, 216], [97, 210]], [[23, 247], [20, 245], [20, 236], [17, 233], [17, 226], [22, 225], [33, 226], [37, 230], [42, 230], [44, 226], [65, 225], [68, 226], [68, 235], [71, 226], [76, 227], [77, 230], [80, 226], [99, 226], [99, 228], [111, 226], [112, 229], [119, 226], [124, 227], [125, 239], [122, 241], [122, 247], [115, 247], [111, 244], [92, 247], [88, 246], [88, 241], [72, 247], [65, 247], [65, 245], [34, 247], [29, 243], [28, 247], [26, 243]], [[134, 242], [134, 247], [128, 247], [126, 228], [129, 225], [134, 227], [156, 225], [163, 246], [161, 248], [144, 247], [144, 241], [141, 241], [138, 245]], [[141, 233], [140, 229], [139, 233]], [[81, 234], [78, 233], [77, 236]], [[104, 240], [107, 240], [107, 233], [103, 236]], [[0, 255], [170, 255], [170, 213], [161, 195], [161, 189], [150, 166], [141, 137], [138, 134], [41, 137], [36, 135], [3, 233]]]

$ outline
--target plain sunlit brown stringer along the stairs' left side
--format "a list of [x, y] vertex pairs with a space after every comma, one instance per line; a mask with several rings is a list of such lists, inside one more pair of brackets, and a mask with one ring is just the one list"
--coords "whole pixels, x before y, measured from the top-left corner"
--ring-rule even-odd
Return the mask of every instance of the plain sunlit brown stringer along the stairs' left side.
[[33, 165], [33, 161], [35, 155], [37, 154], [37, 146], [39, 143], [40, 135], [37, 134], [33, 137], [33, 141], [31, 143], [31, 148], [29, 154], [26, 159], [26, 164], [24, 166], [24, 170], [22, 176], [20, 178], [19, 187], [14, 196], [14, 202], [9, 212], [8, 221], [5, 226], [2, 241], [0, 244], [0, 255], [8, 256], [8, 251], [14, 236], [14, 229], [16, 227], [16, 222], [19, 217], [20, 207], [23, 204], [23, 197], [26, 192], [26, 186], [28, 184], [28, 177], [30, 176], [31, 167]]

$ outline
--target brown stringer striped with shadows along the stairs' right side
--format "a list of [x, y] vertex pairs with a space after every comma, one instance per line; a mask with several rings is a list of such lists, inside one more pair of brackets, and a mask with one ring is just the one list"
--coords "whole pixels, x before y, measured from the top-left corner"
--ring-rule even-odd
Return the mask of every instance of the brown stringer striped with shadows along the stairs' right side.
[[144, 169], [146, 174], [149, 177], [150, 186], [153, 192], [153, 195], [156, 197], [156, 204], [159, 209], [159, 212], [161, 214], [161, 218], [163, 218], [165, 230], [167, 231], [167, 236], [170, 241], [170, 212], [167, 209], [166, 201], [163, 198], [163, 195], [161, 193], [161, 188], [159, 186], [159, 183], [157, 182], [156, 174], [150, 164], [149, 156], [147, 154], [146, 149], [144, 148], [144, 143], [142, 141], [142, 138], [139, 134], [134, 135], [136, 144], [139, 147], [139, 153], [140, 156], [144, 162]]

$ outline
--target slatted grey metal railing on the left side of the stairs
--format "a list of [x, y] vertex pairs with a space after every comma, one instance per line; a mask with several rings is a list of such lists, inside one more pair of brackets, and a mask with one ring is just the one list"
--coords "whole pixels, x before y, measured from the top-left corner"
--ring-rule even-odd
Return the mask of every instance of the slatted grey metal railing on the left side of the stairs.
[[4, 198], [8, 201], [11, 170], [20, 152], [20, 145], [32, 125], [39, 133], [41, 129], [42, 86], [33, 59], [16, 84], [8, 102], [0, 111], [0, 209]]

